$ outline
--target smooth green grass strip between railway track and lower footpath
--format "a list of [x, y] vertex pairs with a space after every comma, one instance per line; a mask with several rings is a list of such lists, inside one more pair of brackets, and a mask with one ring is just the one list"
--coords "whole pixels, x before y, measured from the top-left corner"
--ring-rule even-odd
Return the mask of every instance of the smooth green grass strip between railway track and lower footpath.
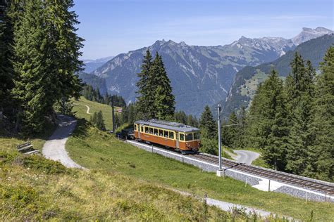
[[79, 122], [66, 148], [75, 162], [89, 169], [104, 169], [199, 196], [207, 193], [217, 200], [244, 204], [303, 221], [309, 219], [311, 211], [316, 221], [334, 218], [334, 205], [331, 203], [305, 202], [289, 195], [262, 192], [248, 185], [245, 187], [245, 183], [232, 178], [224, 180], [214, 173], [202, 172], [197, 167], [135, 148], [84, 122]]

